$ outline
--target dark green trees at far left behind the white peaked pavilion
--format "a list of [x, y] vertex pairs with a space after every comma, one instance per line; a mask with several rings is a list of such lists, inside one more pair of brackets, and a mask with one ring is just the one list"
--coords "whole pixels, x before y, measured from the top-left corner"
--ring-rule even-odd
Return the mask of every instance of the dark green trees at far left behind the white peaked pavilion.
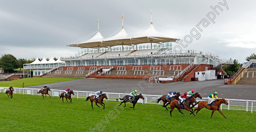
[[[56, 57], [53, 58], [55, 61], [58, 59]], [[23, 64], [30, 64], [33, 61], [36, 60], [36, 57], [32, 57], [30, 59], [27, 58], [19, 58], [17, 59], [12, 54], [2, 54], [0, 58], [0, 68], [7, 71], [7, 73], [10, 73], [14, 71], [15, 69], [23, 68]], [[42, 58], [38, 59], [39, 61], [42, 61]], [[47, 61], [49, 61], [49, 58], [46, 58]]]

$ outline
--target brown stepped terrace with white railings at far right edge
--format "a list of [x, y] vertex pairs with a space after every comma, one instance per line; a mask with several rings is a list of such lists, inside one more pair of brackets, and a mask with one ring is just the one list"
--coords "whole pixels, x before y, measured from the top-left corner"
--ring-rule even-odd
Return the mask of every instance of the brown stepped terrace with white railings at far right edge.
[[234, 81], [231, 84], [256, 85], [256, 68], [246, 69], [243, 76], [240, 79], [236, 79], [236, 83]]

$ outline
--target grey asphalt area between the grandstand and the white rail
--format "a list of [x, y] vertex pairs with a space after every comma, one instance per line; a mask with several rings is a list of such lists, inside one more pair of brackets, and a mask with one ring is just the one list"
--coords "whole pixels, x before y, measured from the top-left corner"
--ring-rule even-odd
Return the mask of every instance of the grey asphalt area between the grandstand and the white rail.
[[[207, 97], [210, 93], [218, 92], [217, 96], [219, 98], [256, 100], [255, 85], [224, 85], [224, 80], [222, 79], [190, 82], [179, 81], [164, 84], [148, 83], [147, 80], [85, 78], [44, 85], [50, 86], [51, 89], [65, 90], [70, 88], [71, 90], [90, 92], [102, 90], [103, 92], [128, 93], [137, 89], [139, 93], [149, 95], [164, 95], [170, 91], [184, 93], [195, 90], [202, 97]], [[30, 86], [28, 88], [42, 88], [44, 85]]]

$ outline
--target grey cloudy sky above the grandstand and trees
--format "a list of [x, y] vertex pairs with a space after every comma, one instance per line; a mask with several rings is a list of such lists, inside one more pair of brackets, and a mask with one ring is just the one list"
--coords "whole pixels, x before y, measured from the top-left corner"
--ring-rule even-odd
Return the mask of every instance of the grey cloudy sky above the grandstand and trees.
[[[107, 38], [122, 26], [128, 35], [140, 32], [151, 21], [155, 29], [171, 37], [184, 39], [190, 30], [209, 12], [210, 6], [219, 5], [219, 11], [201, 37], [188, 44], [184, 50], [203, 50], [218, 53], [223, 58], [238, 59], [256, 50], [255, 1], [226, 0], [225, 6], [214, 1], [0, 1], [0, 54], [10, 53], [17, 58], [65, 57], [78, 52], [76, 47], [66, 47], [98, 30]], [[135, 26], [137, 25], [137, 26]], [[113, 30], [106, 30], [113, 29]], [[80, 42], [80, 41], [78, 41]], [[69, 51], [69, 55], [67, 52]]]

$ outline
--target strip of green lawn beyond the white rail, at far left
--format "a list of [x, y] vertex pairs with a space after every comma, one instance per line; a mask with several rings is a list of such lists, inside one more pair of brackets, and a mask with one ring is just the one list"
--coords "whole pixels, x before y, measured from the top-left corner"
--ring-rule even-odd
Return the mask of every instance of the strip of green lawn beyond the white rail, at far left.
[[22, 84], [25, 84], [25, 87], [27, 86], [34, 86], [34, 85], [41, 85], [41, 84], [48, 84], [48, 83], [54, 83], [54, 82], [64, 82], [64, 81], [70, 81], [70, 80], [76, 80], [79, 78], [40, 78], [40, 77], [34, 77], [34, 78], [23, 78], [13, 81], [1, 81], [0, 87], [16, 87], [21, 88]]

